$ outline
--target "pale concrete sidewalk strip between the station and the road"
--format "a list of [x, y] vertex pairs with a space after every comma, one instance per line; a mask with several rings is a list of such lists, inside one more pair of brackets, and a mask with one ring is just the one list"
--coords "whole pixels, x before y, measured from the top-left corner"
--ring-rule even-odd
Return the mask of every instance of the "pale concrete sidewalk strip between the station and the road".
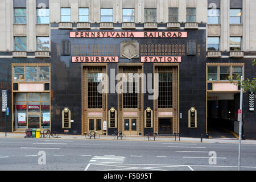
[[[0, 132], [0, 138], [24, 138], [26, 136], [25, 133], [7, 133], [7, 136], [5, 137], [5, 132]], [[85, 139], [85, 137], [83, 135], [59, 135], [58, 138], [42, 138], [42, 139], [78, 139], [78, 140], [88, 140]], [[93, 139], [92, 139], [93, 140]], [[105, 135], [101, 135], [100, 139], [98, 140], [113, 140], [111, 136], [105, 136]], [[129, 141], [145, 141], [144, 137], [141, 136], [126, 136], [125, 140], [129, 140]], [[148, 141], [150, 142], [150, 141]], [[159, 137], [158, 142], [195, 142], [195, 143], [201, 143], [201, 139], [200, 138], [188, 138], [188, 137], [180, 137], [180, 141], [179, 141], [179, 137], [176, 137], [176, 141], [175, 141], [175, 137]], [[216, 138], [212, 138], [212, 139], [205, 139], [203, 138], [203, 143], [234, 143], [234, 144], [238, 144], [238, 139], [233, 139], [233, 138], [220, 138], [220, 139], [216, 139]], [[256, 140], [242, 140], [242, 144], [256, 144]]]

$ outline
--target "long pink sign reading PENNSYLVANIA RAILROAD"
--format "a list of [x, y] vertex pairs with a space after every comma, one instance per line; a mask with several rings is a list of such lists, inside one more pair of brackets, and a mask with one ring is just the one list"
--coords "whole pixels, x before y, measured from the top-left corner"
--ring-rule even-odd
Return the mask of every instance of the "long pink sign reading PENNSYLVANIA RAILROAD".
[[187, 38], [187, 32], [101, 32], [82, 31], [70, 32], [70, 38]]

